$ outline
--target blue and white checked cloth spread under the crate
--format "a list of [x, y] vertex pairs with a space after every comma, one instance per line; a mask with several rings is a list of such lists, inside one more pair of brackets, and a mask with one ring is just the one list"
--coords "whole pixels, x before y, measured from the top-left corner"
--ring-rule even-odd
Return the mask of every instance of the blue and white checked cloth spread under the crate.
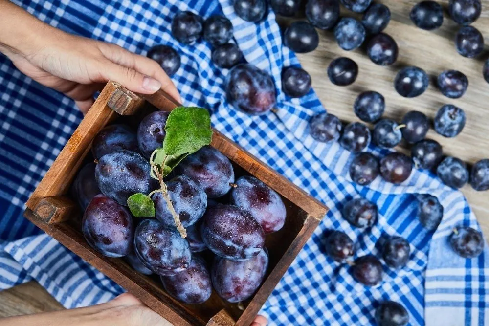
[[[280, 90], [282, 67], [299, 62], [282, 46], [273, 12], [255, 24], [238, 18], [228, 0], [16, 2], [53, 26], [132, 52], [144, 55], [160, 43], [178, 49], [182, 65], [173, 80], [183, 102], [210, 109], [215, 128], [330, 207], [263, 306], [261, 314], [270, 325], [371, 325], [375, 308], [386, 299], [407, 308], [409, 325], [489, 325], [489, 251], [466, 260], [447, 243], [454, 226], [479, 229], [464, 196], [424, 171], [414, 171], [401, 185], [380, 178], [369, 187], [352, 183], [347, 176], [350, 152], [308, 136], [309, 118], [324, 111], [314, 92], [290, 99]], [[178, 10], [204, 18], [224, 14], [232, 21], [246, 60], [275, 81], [276, 114], [248, 116], [230, 107], [222, 87], [228, 70], [211, 63], [209, 44], [183, 45], [172, 38], [170, 23]], [[0, 289], [35, 279], [67, 308], [105, 302], [123, 291], [22, 217], [24, 202], [81, 118], [71, 100], [23, 76], [0, 57]], [[387, 152], [374, 146], [368, 150], [378, 156]], [[437, 196], [445, 209], [434, 233], [423, 229], [416, 217], [415, 194], [421, 193]], [[378, 223], [369, 232], [341, 217], [343, 204], [359, 196], [379, 208]], [[354, 239], [357, 256], [380, 257], [378, 239], [400, 235], [411, 243], [411, 259], [398, 271], [384, 266], [383, 282], [365, 287], [352, 279], [347, 267], [325, 255], [327, 229], [343, 230]]]

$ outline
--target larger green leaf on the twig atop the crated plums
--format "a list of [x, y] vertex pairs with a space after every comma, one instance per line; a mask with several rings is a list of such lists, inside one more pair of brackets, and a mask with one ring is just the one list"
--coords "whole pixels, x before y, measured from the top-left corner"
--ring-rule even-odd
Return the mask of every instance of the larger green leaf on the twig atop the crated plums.
[[206, 109], [195, 107], [175, 108], [168, 115], [165, 131], [163, 150], [179, 162], [182, 155], [195, 153], [202, 146], [211, 143], [212, 129], [209, 112]]

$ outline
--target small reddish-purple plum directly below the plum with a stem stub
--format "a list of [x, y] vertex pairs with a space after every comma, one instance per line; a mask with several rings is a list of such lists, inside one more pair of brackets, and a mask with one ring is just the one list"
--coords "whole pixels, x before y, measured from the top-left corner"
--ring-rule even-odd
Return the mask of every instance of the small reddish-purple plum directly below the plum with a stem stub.
[[390, 153], [380, 159], [380, 175], [385, 181], [404, 182], [411, 175], [411, 171], [413, 171], [413, 162], [402, 153]]

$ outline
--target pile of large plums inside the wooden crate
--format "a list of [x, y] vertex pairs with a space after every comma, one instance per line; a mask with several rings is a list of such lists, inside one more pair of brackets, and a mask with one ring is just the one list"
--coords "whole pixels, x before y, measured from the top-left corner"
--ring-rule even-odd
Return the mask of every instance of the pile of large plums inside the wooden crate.
[[265, 236], [283, 227], [284, 202], [254, 176], [235, 180], [229, 159], [205, 146], [165, 180], [187, 230], [185, 239], [160, 192], [152, 195], [156, 218], [133, 217], [128, 197], [147, 195], [159, 186], [150, 176], [148, 159], [161, 147], [167, 117], [156, 111], [140, 122], [137, 132], [114, 124], [95, 136], [91, 150], [96, 163], [85, 165], [73, 183], [84, 211], [83, 235], [102, 255], [124, 257], [139, 273], [157, 274], [181, 302], [203, 303], [212, 287], [228, 302], [243, 301], [265, 277]]

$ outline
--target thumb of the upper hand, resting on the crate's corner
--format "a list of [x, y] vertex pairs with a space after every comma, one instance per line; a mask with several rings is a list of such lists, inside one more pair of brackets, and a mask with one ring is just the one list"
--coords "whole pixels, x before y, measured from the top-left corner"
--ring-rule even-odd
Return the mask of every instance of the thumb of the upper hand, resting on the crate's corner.
[[143, 75], [132, 68], [108, 62], [104, 68], [104, 77], [141, 94], [153, 94], [161, 88], [161, 83], [154, 78]]

